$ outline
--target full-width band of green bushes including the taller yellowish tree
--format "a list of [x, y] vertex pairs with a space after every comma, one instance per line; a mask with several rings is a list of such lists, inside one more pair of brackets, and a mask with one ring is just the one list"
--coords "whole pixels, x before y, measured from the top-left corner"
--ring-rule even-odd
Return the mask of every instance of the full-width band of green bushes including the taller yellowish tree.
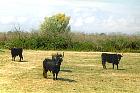
[[101, 52], [140, 52], [139, 35], [85, 34], [72, 32], [70, 17], [56, 14], [45, 17], [39, 30], [0, 33], [0, 48], [22, 47], [40, 50]]

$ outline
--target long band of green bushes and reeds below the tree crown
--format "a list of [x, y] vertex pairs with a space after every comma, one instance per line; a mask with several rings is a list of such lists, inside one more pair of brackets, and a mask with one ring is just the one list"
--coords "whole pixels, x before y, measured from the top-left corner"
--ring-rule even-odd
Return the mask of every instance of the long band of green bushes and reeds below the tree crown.
[[[22, 34], [21, 34], [22, 36]], [[81, 36], [81, 37], [80, 37]], [[140, 52], [140, 38], [121, 36], [89, 36], [75, 37], [70, 33], [42, 35], [28, 33], [28, 37], [13, 38], [0, 42], [0, 48], [23, 47], [24, 49], [41, 50], [74, 50], [103, 52]], [[78, 38], [78, 39], [77, 39]], [[96, 39], [99, 40], [96, 40]], [[93, 39], [93, 40], [92, 40]]]

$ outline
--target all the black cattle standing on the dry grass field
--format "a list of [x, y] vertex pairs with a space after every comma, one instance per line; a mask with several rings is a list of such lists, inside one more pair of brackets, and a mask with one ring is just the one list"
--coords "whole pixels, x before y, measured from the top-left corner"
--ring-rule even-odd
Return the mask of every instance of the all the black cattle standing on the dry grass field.
[[[23, 49], [22, 48], [11, 48], [11, 55], [12, 55], [12, 61], [15, 61], [15, 57], [19, 56], [20, 61], [23, 60], [22, 55]], [[123, 57], [121, 54], [108, 54], [108, 53], [102, 53], [101, 59], [102, 59], [102, 66], [104, 69], [106, 69], [106, 62], [112, 63], [113, 69], [114, 65], [117, 65], [121, 60], [121, 57]], [[58, 73], [60, 71], [61, 62], [64, 58], [64, 52], [63, 54], [54, 54], [52, 55], [52, 58], [45, 58], [43, 61], [43, 76], [44, 78], [47, 78], [47, 72], [50, 71], [53, 74], [53, 80], [57, 80]]]

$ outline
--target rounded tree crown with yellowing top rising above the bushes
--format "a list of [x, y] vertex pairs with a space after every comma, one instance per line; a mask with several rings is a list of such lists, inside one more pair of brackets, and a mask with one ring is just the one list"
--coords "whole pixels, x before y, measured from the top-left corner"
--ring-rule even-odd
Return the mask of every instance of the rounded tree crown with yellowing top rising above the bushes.
[[58, 13], [51, 17], [45, 17], [44, 22], [40, 26], [41, 32], [45, 33], [63, 33], [69, 32], [70, 17], [65, 14]]

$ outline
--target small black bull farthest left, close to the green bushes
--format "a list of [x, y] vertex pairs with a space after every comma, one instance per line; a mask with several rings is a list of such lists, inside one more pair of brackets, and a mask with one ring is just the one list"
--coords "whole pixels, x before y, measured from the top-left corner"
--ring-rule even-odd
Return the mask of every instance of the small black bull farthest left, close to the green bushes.
[[20, 57], [20, 61], [23, 60], [22, 52], [22, 48], [11, 48], [12, 61], [15, 61], [16, 56]]

